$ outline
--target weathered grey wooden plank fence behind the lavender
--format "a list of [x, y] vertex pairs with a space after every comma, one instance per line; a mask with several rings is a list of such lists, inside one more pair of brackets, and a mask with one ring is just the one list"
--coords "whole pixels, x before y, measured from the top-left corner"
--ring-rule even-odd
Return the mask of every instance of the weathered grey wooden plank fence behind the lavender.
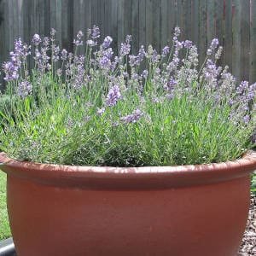
[[51, 27], [66, 49], [72, 49], [76, 32], [95, 24], [115, 47], [131, 34], [136, 51], [140, 44], [163, 48], [180, 26], [182, 39], [197, 44], [201, 61], [207, 44], [218, 38], [221, 61], [236, 78], [256, 81], [256, 0], [0, 0], [0, 18], [0, 62], [15, 38], [29, 42]]

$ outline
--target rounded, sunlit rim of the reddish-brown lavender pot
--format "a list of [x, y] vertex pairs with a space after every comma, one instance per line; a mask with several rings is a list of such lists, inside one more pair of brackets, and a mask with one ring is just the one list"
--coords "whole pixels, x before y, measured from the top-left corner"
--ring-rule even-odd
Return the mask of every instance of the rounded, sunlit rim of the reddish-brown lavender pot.
[[0, 153], [0, 162], [0, 169], [8, 177], [58, 187], [163, 189], [248, 178], [256, 170], [256, 152], [250, 151], [234, 161], [187, 166], [65, 166], [13, 160], [4, 153]]

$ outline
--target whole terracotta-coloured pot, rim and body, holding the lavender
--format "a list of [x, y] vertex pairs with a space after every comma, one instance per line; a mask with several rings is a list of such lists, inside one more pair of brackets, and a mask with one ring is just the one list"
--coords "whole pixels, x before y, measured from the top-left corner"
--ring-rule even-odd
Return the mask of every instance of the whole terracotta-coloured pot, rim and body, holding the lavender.
[[256, 169], [255, 154], [140, 168], [0, 161], [18, 256], [235, 256]]

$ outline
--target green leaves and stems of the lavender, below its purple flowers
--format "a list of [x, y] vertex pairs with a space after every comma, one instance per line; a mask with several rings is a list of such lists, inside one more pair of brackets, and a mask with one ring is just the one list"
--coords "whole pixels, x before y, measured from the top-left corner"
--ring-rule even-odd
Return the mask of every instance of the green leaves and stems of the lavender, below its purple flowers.
[[[96, 91], [51, 84], [39, 100], [15, 100], [1, 113], [0, 146], [9, 156], [68, 165], [173, 166], [235, 160], [250, 147], [253, 127], [230, 122], [232, 108], [205, 95], [154, 102], [131, 90], [99, 115]], [[120, 121], [138, 107], [141, 119]]]

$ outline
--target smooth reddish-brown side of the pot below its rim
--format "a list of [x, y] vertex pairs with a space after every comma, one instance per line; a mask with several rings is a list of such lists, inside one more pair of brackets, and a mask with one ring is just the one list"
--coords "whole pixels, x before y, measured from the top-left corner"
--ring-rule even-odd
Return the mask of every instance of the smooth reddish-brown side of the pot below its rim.
[[19, 256], [235, 256], [249, 183], [95, 190], [10, 176], [9, 219]]

